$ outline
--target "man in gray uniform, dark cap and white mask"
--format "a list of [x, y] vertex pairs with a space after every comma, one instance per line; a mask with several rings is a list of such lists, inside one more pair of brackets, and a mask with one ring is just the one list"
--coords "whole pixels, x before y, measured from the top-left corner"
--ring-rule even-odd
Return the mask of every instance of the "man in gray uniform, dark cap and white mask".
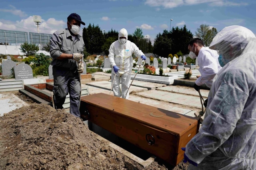
[[50, 55], [52, 57], [52, 74], [54, 78], [55, 109], [63, 109], [66, 95], [70, 95], [70, 113], [80, 117], [80, 78], [84, 71], [84, 40], [79, 35], [80, 25], [85, 25], [81, 17], [72, 13], [68, 16], [68, 28], [58, 30], [50, 39]]

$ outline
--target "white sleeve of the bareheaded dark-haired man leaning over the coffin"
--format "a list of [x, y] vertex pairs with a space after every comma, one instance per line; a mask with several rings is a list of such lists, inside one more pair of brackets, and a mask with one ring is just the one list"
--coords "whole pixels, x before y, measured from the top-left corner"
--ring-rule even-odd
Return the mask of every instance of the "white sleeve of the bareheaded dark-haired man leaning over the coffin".
[[210, 53], [205, 53], [202, 55], [202, 57], [198, 57], [198, 64], [200, 64], [202, 71], [201, 76], [196, 80], [195, 83], [196, 85], [201, 86], [214, 78], [214, 76], [218, 73], [218, 65]]

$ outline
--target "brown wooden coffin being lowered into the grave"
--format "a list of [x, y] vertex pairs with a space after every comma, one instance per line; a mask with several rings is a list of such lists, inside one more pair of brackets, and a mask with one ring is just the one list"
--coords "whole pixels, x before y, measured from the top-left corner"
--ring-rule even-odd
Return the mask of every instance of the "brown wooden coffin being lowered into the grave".
[[[149, 104], [150, 105], [150, 104]], [[176, 166], [199, 120], [108, 94], [82, 96], [81, 117]]]

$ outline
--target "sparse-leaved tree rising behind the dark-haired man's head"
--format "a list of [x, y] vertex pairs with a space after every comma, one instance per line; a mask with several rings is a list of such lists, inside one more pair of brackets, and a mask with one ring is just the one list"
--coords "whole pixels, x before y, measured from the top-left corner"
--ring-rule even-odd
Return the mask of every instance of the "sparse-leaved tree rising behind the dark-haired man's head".
[[208, 47], [210, 43], [212, 42], [212, 39], [215, 37], [215, 35], [218, 33], [216, 28], [210, 29], [209, 25], [202, 24], [199, 28], [196, 29], [195, 32], [196, 37], [202, 39], [204, 42], [204, 46]]

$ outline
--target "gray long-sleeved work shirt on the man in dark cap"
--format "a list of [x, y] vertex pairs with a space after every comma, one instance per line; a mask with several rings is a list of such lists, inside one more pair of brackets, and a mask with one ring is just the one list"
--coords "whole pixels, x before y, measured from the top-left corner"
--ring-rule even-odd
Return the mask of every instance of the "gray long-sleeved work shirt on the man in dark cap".
[[76, 35], [76, 38], [72, 39], [72, 35], [68, 29], [62, 29], [55, 31], [50, 39], [50, 55], [52, 57], [52, 66], [61, 66], [69, 68], [70, 70], [77, 68], [77, 62], [73, 59], [58, 60], [62, 53], [73, 54], [83, 53], [84, 40], [81, 35]]

